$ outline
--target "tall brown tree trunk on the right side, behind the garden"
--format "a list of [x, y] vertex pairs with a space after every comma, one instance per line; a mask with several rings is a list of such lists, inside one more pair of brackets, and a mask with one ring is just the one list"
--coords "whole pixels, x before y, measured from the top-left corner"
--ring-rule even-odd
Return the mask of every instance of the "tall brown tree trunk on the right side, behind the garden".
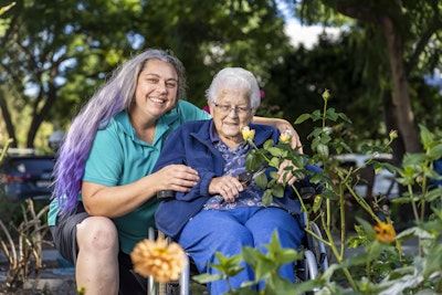
[[[411, 110], [401, 34], [394, 31], [394, 25], [388, 17], [381, 18], [380, 28], [386, 39], [391, 69], [391, 115], [396, 120], [394, 125], [398, 127], [399, 136], [404, 145], [404, 151], [419, 152], [422, 150], [422, 147], [420, 145], [418, 128], [414, 126], [413, 112]], [[389, 110], [386, 109], [386, 112]], [[386, 116], [389, 115], [386, 114]]]

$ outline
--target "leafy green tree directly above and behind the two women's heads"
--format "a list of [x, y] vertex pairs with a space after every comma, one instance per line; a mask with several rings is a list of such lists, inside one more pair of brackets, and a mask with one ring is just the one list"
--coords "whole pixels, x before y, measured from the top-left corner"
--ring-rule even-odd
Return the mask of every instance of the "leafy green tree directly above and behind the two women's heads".
[[199, 106], [207, 104], [204, 92], [222, 67], [245, 67], [264, 86], [269, 69], [291, 48], [273, 0], [150, 1], [145, 13], [149, 18], [137, 27], [150, 32], [146, 45], [173, 49], [187, 69], [188, 96]]

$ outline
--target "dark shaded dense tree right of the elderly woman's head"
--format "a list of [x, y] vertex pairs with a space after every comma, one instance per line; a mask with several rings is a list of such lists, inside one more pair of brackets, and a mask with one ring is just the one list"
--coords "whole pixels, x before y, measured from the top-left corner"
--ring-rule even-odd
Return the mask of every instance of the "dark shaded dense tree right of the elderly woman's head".
[[[362, 71], [354, 66], [354, 46], [348, 33], [337, 40], [319, 35], [318, 44], [311, 50], [299, 46], [284, 55], [284, 63], [271, 70], [271, 83], [265, 86], [274, 104], [284, 106], [284, 117], [291, 122], [305, 113], [324, 107], [324, 89], [333, 89], [329, 107], [345, 112], [352, 120], [351, 126], [343, 126], [340, 133], [352, 150], [357, 150], [361, 140], [379, 140], [379, 125], [367, 124], [366, 113], [375, 122], [381, 122], [380, 106], [366, 92]], [[307, 138], [313, 126], [296, 126], [301, 138]], [[383, 136], [383, 135], [382, 135]], [[306, 152], [308, 145], [305, 146]]]

